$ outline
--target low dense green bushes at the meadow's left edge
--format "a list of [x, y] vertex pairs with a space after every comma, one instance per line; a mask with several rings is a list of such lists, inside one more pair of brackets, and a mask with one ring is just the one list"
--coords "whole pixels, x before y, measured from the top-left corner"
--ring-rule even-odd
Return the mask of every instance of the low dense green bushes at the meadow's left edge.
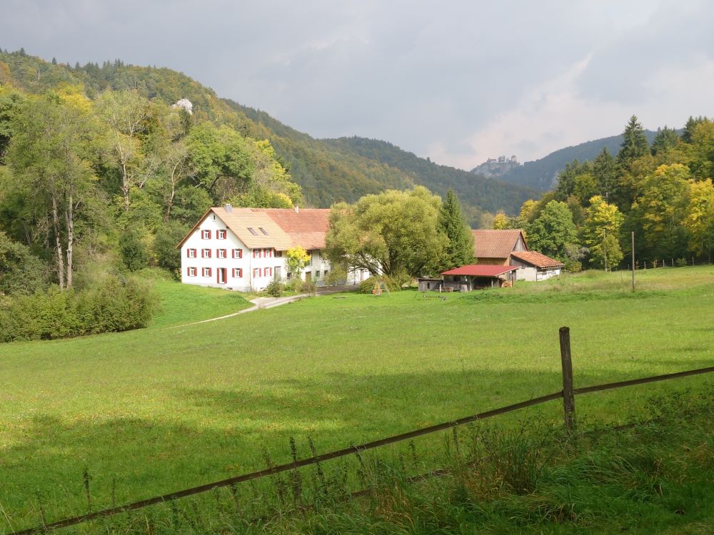
[[47, 292], [0, 302], [0, 341], [54, 340], [146, 327], [155, 305], [145, 280], [110, 275], [83, 292]]

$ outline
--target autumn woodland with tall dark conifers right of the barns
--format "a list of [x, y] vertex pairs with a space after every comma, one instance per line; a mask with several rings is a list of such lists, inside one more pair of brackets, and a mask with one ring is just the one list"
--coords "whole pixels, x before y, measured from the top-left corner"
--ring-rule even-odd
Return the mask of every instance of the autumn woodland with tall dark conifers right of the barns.
[[690, 117], [652, 143], [632, 116], [620, 150], [565, 166], [553, 190], [498, 213], [493, 228], [522, 228], [528, 244], [570, 270], [710, 262], [714, 245], [714, 122]]

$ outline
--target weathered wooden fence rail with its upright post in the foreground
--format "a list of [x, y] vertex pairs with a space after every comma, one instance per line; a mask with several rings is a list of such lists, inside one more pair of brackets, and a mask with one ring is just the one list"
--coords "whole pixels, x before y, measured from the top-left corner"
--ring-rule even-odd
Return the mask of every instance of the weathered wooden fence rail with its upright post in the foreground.
[[[161, 496], [154, 496], [153, 498], [143, 499], [139, 501], [134, 501], [131, 504], [125, 504], [121, 506], [110, 507], [109, 509], [102, 509], [101, 511], [94, 511], [91, 513], [73, 516], [68, 519], [62, 519], [54, 521], [42, 526], [35, 526], [28, 529], [23, 529], [21, 531], [11, 531], [12, 535], [34, 535], [40, 533], [46, 533], [51, 529], [60, 529], [69, 526], [75, 526], [76, 524], [82, 524], [87, 521], [100, 519], [106, 516], [113, 516], [116, 514], [126, 513], [129, 511], [134, 511], [136, 509], [143, 509], [151, 505], [161, 504], [166, 501], [172, 501], [180, 498], [186, 498], [187, 496], [193, 496], [195, 494], [201, 494], [203, 492], [211, 491], [213, 489], [218, 489], [224, 486], [231, 486], [235, 484], [240, 484], [245, 481], [252, 481], [255, 479], [261, 479], [263, 477], [272, 476], [274, 474], [280, 474], [281, 472], [288, 472], [290, 470], [298, 469], [301, 467], [307, 467], [311, 464], [317, 464], [320, 462], [329, 461], [331, 459], [338, 459], [340, 457], [346, 457], [348, 455], [356, 454], [359, 452], [365, 452], [369, 449], [375, 449], [382, 446], [387, 446], [388, 444], [396, 444], [397, 442], [403, 442], [405, 440], [415, 439], [416, 437], [423, 437], [426, 434], [432, 434], [440, 431], [445, 431], [446, 429], [451, 429], [452, 427], [458, 427], [463, 424], [469, 424], [471, 422], [476, 422], [478, 420], [488, 419], [492, 417], [499, 416], [501, 414], [506, 414], [508, 412], [513, 412], [519, 409], [525, 409], [526, 407], [533, 407], [541, 403], [553, 401], [553, 399], [562, 398], [563, 399], [563, 412], [565, 418], [565, 427], [571, 429], [575, 425], [575, 403], [574, 397], [580, 394], [590, 394], [591, 392], [602, 392], [603, 390], [617, 389], [623, 387], [631, 387], [638, 384], [646, 384], [650, 382], [665, 381], [668, 379], [678, 379], [679, 377], [688, 377], [691, 375], [700, 375], [714, 372], [714, 366], [698, 368], [697, 370], [686, 370], [684, 372], [675, 372], [670, 374], [655, 375], [653, 377], [642, 377], [639, 379], [630, 379], [627, 381], [618, 381], [605, 384], [596, 384], [590, 387], [573, 387], [573, 369], [570, 361], [570, 329], [568, 327], [560, 327], [560, 357], [561, 365], [563, 368], [563, 389], [558, 392], [553, 392], [552, 394], [545, 394], [544, 396], [534, 397], [523, 402], [514, 403], [511, 405], [506, 405], [506, 407], [499, 407], [498, 409], [491, 409], [486, 412], [480, 412], [478, 414], [472, 414], [471, 416], [466, 416], [463, 418], [458, 418], [452, 420], [451, 422], [443, 422], [441, 424], [432, 425], [429, 427], [423, 427], [421, 429], [415, 429], [410, 432], [396, 434], [391, 437], [386, 437], [383, 439], [378, 439], [373, 442], [366, 442], [358, 446], [351, 446], [348, 448], [338, 449], [333, 452], [328, 452], [321, 455], [316, 455], [314, 457], [308, 457], [306, 459], [301, 459], [298, 461], [279, 464], [274, 467], [269, 467], [263, 470], [258, 470], [256, 472], [250, 472], [248, 474], [242, 474], [236, 477], [229, 477], [228, 479], [222, 479], [221, 481], [214, 481], [213, 483], [203, 484], [199, 486], [191, 487], [190, 489], [183, 489], [180, 491], [171, 492], [169, 494], [163, 494]], [[440, 473], [440, 471], [435, 471]], [[10, 535], [10, 534], [7, 534]]]

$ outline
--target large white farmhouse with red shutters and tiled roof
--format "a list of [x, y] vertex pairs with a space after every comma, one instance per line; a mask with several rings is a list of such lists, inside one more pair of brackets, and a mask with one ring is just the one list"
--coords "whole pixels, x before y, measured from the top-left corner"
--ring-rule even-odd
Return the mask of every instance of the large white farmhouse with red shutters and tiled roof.
[[[209, 208], [178, 244], [181, 282], [241, 292], [292, 277], [323, 285], [331, 269], [322, 253], [329, 213], [316, 208]], [[291, 273], [286, 251], [298, 245], [310, 261], [300, 273]], [[353, 270], [347, 282], [368, 276], [366, 270]]]

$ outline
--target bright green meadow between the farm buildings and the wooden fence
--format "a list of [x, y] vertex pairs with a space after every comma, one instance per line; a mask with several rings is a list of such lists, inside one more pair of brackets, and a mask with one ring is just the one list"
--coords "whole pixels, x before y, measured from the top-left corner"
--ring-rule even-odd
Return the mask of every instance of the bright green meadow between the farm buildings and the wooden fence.
[[[287, 461], [289, 437], [326, 452], [555, 392], [563, 325], [576, 386], [713, 364], [714, 267], [638, 272], [635, 294], [628, 282], [313, 297], [184, 327], [169, 325], [246, 303], [161, 282], [147, 330], [0, 347], [0, 529], [36, 524], [39, 504], [49, 520], [86, 512], [85, 469], [99, 509], [113, 487], [122, 503], [263, 468], [263, 448]], [[703, 380], [578, 397], [578, 417], [624, 421]]]

